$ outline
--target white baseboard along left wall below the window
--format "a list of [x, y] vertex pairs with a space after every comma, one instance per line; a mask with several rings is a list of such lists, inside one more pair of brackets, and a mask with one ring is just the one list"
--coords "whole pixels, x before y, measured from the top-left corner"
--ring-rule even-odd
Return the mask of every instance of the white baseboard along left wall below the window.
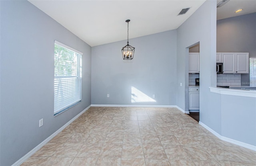
[[26, 160], [28, 160], [28, 158], [30, 156], [32, 156], [37, 150], [39, 150], [40, 148], [42, 148], [44, 145], [46, 145], [46, 143], [48, 143], [51, 139], [53, 139], [58, 133], [60, 133], [63, 129], [65, 129], [68, 125], [70, 125], [70, 123], [72, 123], [74, 120], [76, 120], [80, 115], [82, 115], [85, 111], [87, 111], [89, 108], [91, 107], [91, 105], [89, 105], [88, 107], [86, 107], [86, 109], [84, 109], [82, 112], [80, 112], [78, 115], [76, 115], [75, 117], [73, 117], [70, 121], [68, 121], [68, 123], [66, 123], [64, 126], [60, 127], [60, 129], [58, 129], [57, 131], [55, 131], [52, 135], [50, 135], [48, 138], [46, 138], [42, 143], [40, 143], [39, 145], [37, 145], [35, 148], [33, 148], [32, 150], [30, 150], [30, 152], [28, 152], [27, 154], [25, 154], [22, 158], [20, 158], [18, 161], [16, 161], [14, 164], [12, 164], [12, 166], [20, 166], [23, 162], [25, 162]]

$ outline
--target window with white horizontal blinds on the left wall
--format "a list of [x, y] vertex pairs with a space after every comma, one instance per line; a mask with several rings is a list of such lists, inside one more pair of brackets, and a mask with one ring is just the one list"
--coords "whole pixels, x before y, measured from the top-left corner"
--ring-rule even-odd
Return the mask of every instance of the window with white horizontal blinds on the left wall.
[[82, 53], [54, 44], [54, 116], [81, 102]]

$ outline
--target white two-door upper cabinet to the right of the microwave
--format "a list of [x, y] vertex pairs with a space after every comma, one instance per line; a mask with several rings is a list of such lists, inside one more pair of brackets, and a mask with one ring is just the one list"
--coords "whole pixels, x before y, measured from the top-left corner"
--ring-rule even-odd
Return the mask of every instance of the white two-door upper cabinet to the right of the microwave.
[[222, 62], [223, 73], [249, 73], [249, 53], [222, 53]]

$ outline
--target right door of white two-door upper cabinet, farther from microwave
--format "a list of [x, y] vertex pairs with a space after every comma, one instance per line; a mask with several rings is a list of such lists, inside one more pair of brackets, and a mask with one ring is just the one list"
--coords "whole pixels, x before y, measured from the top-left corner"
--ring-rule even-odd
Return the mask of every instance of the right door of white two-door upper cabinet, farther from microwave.
[[249, 73], [249, 53], [236, 53], [236, 73]]

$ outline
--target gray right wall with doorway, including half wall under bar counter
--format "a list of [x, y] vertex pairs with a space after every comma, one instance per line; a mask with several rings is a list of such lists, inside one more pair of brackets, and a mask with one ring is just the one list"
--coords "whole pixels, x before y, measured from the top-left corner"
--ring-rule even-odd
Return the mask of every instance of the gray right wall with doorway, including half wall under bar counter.
[[[188, 48], [198, 42], [200, 42], [200, 123], [221, 136], [255, 146], [255, 98], [221, 95], [209, 90], [210, 86], [216, 87], [216, 1], [204, 2], [177, 29], [177, 76], [179, 76], [177, 105], [181, 108], [186, 108], [188, 105], [184, 100], [188, 86]], [[178, 86], [180, 82], [185, 82], [186, 85]]]

